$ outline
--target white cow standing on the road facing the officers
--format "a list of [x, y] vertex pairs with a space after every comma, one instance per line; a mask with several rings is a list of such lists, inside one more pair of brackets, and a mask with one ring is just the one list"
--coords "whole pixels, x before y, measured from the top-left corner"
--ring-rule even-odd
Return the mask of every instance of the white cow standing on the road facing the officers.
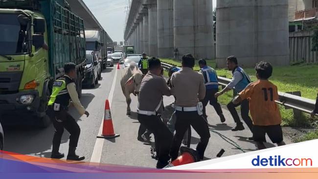
[[143, 76], [135, 62], [124, 69], [124, 76], [120, 80], [120, 85], [127, 102], [127, 115], [131, 113], [130, 103], [132, 99], [130, 94], [138, 95]]

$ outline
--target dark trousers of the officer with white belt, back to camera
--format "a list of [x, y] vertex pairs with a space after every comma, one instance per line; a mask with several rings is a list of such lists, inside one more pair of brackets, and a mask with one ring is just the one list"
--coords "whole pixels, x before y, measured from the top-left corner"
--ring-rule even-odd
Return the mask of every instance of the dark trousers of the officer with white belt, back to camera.
[[204, 158], [204, 151], [206, 149], [207, 143], [210, 138], [210, 131], [208, 129], [207, 121], [198, 115], [197, 111], [193, 112], [182, 112], [176, 111], [176, 134], [173, 138], [170, 157], [172, 160], [178, 158], [179, 149], [184, 136], [185, 131], [188, 129], [189, 125], [199, 134], [200, 142], [197, 145], [197, 151], [199, 153], [200, 159]]

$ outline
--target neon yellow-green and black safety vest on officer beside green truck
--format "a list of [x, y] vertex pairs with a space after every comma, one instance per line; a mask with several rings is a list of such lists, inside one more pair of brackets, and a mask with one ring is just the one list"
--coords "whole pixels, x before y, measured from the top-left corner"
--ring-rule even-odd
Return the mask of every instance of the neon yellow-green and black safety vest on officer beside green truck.
[[52, 106], [54, 103], [60, 104], [63, 107], [69, 105], [70, 96], [68, 94], [67, 86], [71, 82], [74, 81], [66, 76], [54, 81], [52, 95], [48, 101], [49, 106]]

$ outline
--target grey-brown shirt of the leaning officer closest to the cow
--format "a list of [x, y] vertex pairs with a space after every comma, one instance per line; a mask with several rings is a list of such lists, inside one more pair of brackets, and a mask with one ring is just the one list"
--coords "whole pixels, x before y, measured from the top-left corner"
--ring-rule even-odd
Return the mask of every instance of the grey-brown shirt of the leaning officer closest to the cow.
[[[154, 112], [162, 100], [163, 95], [171, 96], [171, 92], [166, 81], [161, 76], [148, 72], [140, 84], [138, 109]], [[159, 114], [162, 114], [162, 106], [163, 105], [161, 104], [157, 111]]]

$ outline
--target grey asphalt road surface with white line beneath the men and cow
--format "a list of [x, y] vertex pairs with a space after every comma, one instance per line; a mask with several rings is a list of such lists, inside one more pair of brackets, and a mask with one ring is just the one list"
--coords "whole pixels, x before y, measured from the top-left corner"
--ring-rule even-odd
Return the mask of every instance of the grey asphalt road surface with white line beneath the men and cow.
[[[137, 99], [134, 96], [132, 96], [131, 104], [133, 113], [131, 116], [126, 116], [126, 101], [120, 87], [121, 76], [122, 70], [117, 70], [115, 67], [114, 69], [107, 68], [102, 73], [103, 79], [94, 89], [83, 89], [81, 101], [91, 114], [89, 118], [85, 116], [80, 118], [74, 108], [70, 109], [75, 119], [80, 118], [77, 121], [81, 127], [77, 153], [84, 155], [86, 161], [155, 167], [157, 161], [151, 158], [150, 145], [137, 140], [139, 122], [136, 119]], [[116, 134], [120, 134], [120, 137], [96, 140], [104, 115], [106, 99], [111, 99], [114, 130]], [[164, 98], [165, 105], [172, 101], [172, 97]], [[251, 136], [250, 131], [232, 132], [230, 129], [235, 126], [235, 123], [225, 108], [223, 111], [227, 121], [221, 124], [212, 106], [207, 107], [211, 138], [205, 152], [205, 159], [216, 158], [221, 149], [225, 150], [223, 157], [256, 150], [255, 143], [247, 140]], [[247, 126], [245, 127], [248, 129]], [[5, 128], [5, 150], [48, 158], [50, 157], [53, 133], [52, 125], [46, 129], [23, 128], [21, 126]], [[60, 152], [65, 154], [68, 153], [68, 135], [66, 131], [60, 147]], [[192, 135], [191, 147], [195, 148], [200, 138], [193, 129]], [[286, 142], [291, 143], [291, 141]], [[267, 146], [273, 147], [274, 145], [267, 143]]]

